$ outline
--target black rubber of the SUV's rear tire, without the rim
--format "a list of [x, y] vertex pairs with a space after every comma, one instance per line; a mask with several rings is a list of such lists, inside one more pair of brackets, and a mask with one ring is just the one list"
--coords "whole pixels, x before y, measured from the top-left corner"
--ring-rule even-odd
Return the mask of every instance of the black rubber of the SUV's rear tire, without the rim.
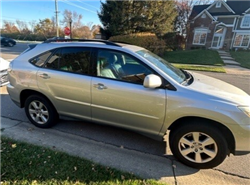
[[[44, 106], [47, 108], [48, 113], [49, 113], [49, 118], [48, 118], [48, 121], [46, 123], [39, 124], [39, 123], [35, 122], [32, 119], [32, 117], [30, 116], [29, 105], [33, 101], [39, 101], [39, 102], [43, 103]], [[34, 124], [35, 126], [37, 126], [37, 127], [40, 127], [40, 128], [50, 128], [50, 127], [54, 126], [56, 124], [56, 122], [57, 122], [58, 114], [57, 114], [55, 108], [53, 107], [53, 105], [46, 98], [44, 98], [42, 96], [32, 95], [32, 96], [28, 97], [26, 99], [26, 101], [25, 101], [24, 107], [25, 107], [26, 116], [28, 117], [28, 119], [30, 120], [30, 122], [32, 124]]]

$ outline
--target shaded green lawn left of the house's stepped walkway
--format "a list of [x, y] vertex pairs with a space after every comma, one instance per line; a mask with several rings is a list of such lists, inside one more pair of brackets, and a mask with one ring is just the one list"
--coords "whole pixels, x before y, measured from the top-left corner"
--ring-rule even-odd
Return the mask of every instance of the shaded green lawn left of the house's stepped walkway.
[[224, 65], [218, 52], [213, 50], [170, 51], [166, 52], [163, 58], [170, 63], [216, 66]]

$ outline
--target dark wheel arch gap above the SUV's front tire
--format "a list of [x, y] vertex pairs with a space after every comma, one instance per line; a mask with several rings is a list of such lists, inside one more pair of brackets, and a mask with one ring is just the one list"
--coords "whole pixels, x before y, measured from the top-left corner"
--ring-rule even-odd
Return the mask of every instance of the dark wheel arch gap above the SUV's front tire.
[[201, 118], [201, 117], [192, 117], [192, 116], [179, 118], [178, 120], [176, 120], [169, 126], [168, 128], [168, 130], [170, 130], [169, 137], [171, 137], [171, 131], [175, 130], [177, 127], [180, 127], [181, 125], [184, 125], [184, 124], [187, 124], [188, 122], [193, 122], [193, 121], [202, 122], [202, 124], [207, 124], [207, 125], [209, 124], [217, 128], [225, 136], [225, 139], [228, 144], [229, 152], [232, 154], [235, 154], [235, 138], [232, 132], [229, 130], [229, 128], [227, 128], [222, 123], [219, 123], [211, 119]]

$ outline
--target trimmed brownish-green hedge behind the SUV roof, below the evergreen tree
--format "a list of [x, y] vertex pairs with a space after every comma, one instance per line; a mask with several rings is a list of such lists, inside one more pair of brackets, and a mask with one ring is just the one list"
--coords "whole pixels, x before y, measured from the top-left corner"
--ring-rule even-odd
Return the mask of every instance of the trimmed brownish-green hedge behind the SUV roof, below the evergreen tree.
[[110, 37], [109, 40], [141, 46], [158, 55], [162, 55], [167, 49], [165, 41], [151, 33], [119, 35]]

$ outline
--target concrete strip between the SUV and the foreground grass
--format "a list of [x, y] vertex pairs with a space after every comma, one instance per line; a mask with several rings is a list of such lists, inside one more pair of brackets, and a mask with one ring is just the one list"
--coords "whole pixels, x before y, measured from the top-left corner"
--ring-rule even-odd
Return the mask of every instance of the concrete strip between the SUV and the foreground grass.
[[[96, 163], [130, 172], [144, 179], [169, 185], [250, 184], [250, 179], [216, 169], [189, 168], [170, 156], [156, 156], [117, 147], [55, 129], [40, 129], [30, 123], [0, 117], [0, 135], [83, 157]], [[18, 147], [18, 146], [17, 146]]]

